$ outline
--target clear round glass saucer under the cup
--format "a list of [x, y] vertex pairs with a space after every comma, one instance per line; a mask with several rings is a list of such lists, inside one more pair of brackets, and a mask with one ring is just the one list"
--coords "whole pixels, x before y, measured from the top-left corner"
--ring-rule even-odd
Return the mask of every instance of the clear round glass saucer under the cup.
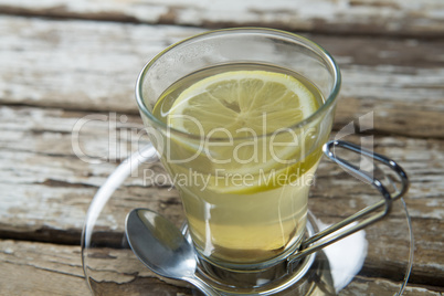
[[[345, 205], [341, 197], [317, 193], [331, 186], [329, 178], [337, 178], [323, 177], [331, 168], [321, 162], [310, 197], [310, 223], [319, 230], [379, 198], [378, 192], [360, 190], [357, 194], [362, 199]], [[151, 146], [135, 152], [108, 177], [89, 205], [82, 234], [82, 263], [93, 295], [201, 295], [184, 282], [160, 277], [145, 267], [125, 236], [126, 215], [135, 208], [155, 210], [182, 226], [184, 215], [177, 197]], [[330, 214], [326, 207], [330, 202], [343, 207], [343, 211], [336, 209], [335, 213], [343, 212], [345, 216]], [[401, 295], [413, 262], [413, 234], [403, 199], [393, 202], [392, 212], [384, 220], [325, 247], [307, 261], [310, 262], [303, 274], [289, 275], [276, 289], [236, 293], [232, 288], [223, 295]], [[300, 272], [299, 267], [295, 271]], [[205, 275], [201, 277], [214, 282]]]

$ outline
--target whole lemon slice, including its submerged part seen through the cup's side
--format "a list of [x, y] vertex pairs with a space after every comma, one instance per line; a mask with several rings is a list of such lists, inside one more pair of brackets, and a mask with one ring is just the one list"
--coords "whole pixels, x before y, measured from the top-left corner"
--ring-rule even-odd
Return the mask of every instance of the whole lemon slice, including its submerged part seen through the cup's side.
[[[203, 78], [186, 88], [168, 114], [172, 128], [207, 137], [199, 144], [205, 145], [200, 152], [197, 142], [175, 139], [177, 155], [192, 156], [187, 168], [175, 169], [208, 173], [209, 189], [224, 193], [249, 194], [294, 182], [317, 163], [319, 151], [307, 156], [313, 142], [306, 140], [305, 130], [288, 127], [317, 108], [315, 95], [283, 73], [231, 71]], [[273, 135], [281, 129], [287, 130]], [[218, 171], [223, 171], [224, 182]], [[251, 181], [240, 186], [230, 179], [235, 175], [249, 175]]]

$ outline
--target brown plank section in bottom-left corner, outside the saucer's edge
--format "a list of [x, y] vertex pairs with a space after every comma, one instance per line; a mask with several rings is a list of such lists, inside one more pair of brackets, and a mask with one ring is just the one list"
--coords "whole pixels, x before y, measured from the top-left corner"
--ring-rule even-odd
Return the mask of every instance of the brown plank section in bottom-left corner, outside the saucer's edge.
[[88, 295], [80, 246], [0, 240], [1, 295]]

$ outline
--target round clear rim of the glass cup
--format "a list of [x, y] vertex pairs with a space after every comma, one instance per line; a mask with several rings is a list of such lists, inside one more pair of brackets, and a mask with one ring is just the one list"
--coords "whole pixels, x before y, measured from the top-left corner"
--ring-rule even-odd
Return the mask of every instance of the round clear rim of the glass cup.
[[[277, 30], [277, 29], [268, 29], [268, 28], [229, 28], [229, 29], [220, 29], [220, 30], [211, 30], [211, 31], [207, 31], [200, 34], [195, 34], [192, 35], [190, 38], [183, 39], [179, 42], [176, 42], [173, 44], [171, 44], [170, 46], [166, 47], [163, 51], [161, 51], [160, 53], [158, 53], [155, 57], [152, 57], [141, 70], [139, 76], [137, 77], [137, 82], [136, 82], [136, 102], [137, 105], [139, 107], [139, 109], [147, 116], [147, 118], [150, 120], [150, 123], [156, 126], [156, 127], [160, 127], [162, 129], [168, 129], [169, 133], [173, 133], [177, 135], [180, 135], [182, 137], [187, 137], [187, 138], [191, 138], [191, 139], [197, 139], [197, 140], [201, 140], [202, 136], [201, 135], [193, 135], [193, 134], [189, 134], [187, 131], [180, 130], [180, 129], [176, 129], [172, 128], [170, 126], [168, 126], [167, 124], [162, 123], [161, 120], [159, 120], [158, 118], [156, 118], [151, 112], [147, 108], [144, 98], [142, 98], [142, 81], [145, 75], [147, 74], [147, 72], [151, 68], [151, 66], [157, 62], [157, 60], [159, 60], [163, 54], [166, 54], [167, 52], [175, 50], [176, 47], [192, 42], [194, 40], [201, 39], [201, 38], [205, 38], [208, 35], [218, 35], [218, 34], [223, 34], [223, 33], [267, 33], [267, 34], [277, 34], [281, 36], [286, 36], [286, 38], [292, 38], [294, 40], [298, 40], [304, 42], [306, 45], [309, 45], [310, 49], [315, 49], [315, 51], [321, 55], [321, 57], [328, 62], [328, 64], [330, 65], [330, 67], [334, 70], [334, 88], [331, 89], [330, 94], [328, 95], [327, 99], [324, 102], [324, 104], [315, 112], [313, 113], [310, 116], [308, 116], [307, 118], [305, 118], [304, 120], [294, 124], [292, 126], [287, 126], [284, 127], [283, 129], [297, 129], [300, 128], [303, 126], [306, 126], [308, 123], [314, 121], [316, 118], [318, 118], [321, 114], [324, 114], [326, 112], [326, 109], [328, 109], [337, 99], [338, 94], [339, 94], [339, 89], [340, 89], [340, 85], [341, 85], [341, 74], [340, 74], [340, 70], [338, 64], [336, 63], [335, 59], [331, 56], [331, 54], [329, 54], [323, 46], [320, 46], [319, 44], [317, 44], [316, 42], [306, 39], [302, 35], [298, 35], [296, 33], [292, 33], [292, 32], [287, 32], [287, 31], [283, 31], [283, 30]], [[285, 133], [285, 131], [282, 131]], [[266, 138], [266, 137], [271, 137], [273, 135], [275, 135], [276, 131], [273, 133], [268, 133], [268, 134], [264, 134], [264, 135], [258, 135], [255, 137], [258, 138]], [[233, 137], [232, 139], [234, 140], [239, 140], [239, 139], [251, 139], [254, 138], [254, 136], [249, 136], [249, 137]], [[212, 138], [212, 140], [226, 140], [226, 138]]]

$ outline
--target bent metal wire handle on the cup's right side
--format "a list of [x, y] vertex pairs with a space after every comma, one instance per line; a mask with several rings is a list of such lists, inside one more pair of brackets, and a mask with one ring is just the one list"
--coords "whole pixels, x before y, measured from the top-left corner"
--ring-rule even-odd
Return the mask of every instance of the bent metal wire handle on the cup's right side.
[[[392, 171], [394, 171], [398, 177], [400, 178], [401, 181], [401, 188], [398, 189], [394, 184], [395, 192], [390, 193], [390, 191], [382, 184], [380, 180], [373, 177], [372, 173], [368, 171], [360, 170], [358, 167], [355, 165], [348, 162], [347, 160], [337, 157], [335, 152], [332, 151], [336, 148], [345, 148], [347, 150], [353, 151], [359, 155], [367, 156], [373, 160], [377, 160], [378, 162], [381, 162], [382, 165], [389, 167]], [[340, 167], [342, 167], [346, 171], [348, 171], [351, 175], [355, 175], [357, 178], [360, 180], [373, 186], [382, 195], [382, 200], [379, 202], [369, 205], [361, 211], [350, 215], [349, 218], [342, 220], [339, 223], [336, 223], [324, 231], [318, 232], [317, 234], [313, 235], [311, 237], [305, 240], [302, 245], [299, 251], [290, 255], [287, 261], [288, 261], [288, 266], [292, 266], [292, 264], [299, 258], [307, 256], [316, 251], [319, 251], [320, 249], [326, 247], [327, 245], [330, 245], [357, 231], [362, 230], [363, 228], [370, 225], [371, 223], [374, 223], [385, 215], [389, 214], [391, 210], [391, 203], [393, 200], [399, 199], [409, 189], [409, 179], [405, 173], [405, 171], [393, 160], [379, 155], [379, 154], [373, 154], [372, 151], [362, 149], [361, 147], [347, 142], [347, 141], [340, 141], [340, 140], [334, 140], [334, 141], [328, 141], [326, 145], [323, 147], [324, 154], [332, 161], [338, 163]], [[374, 166], [376, 167], [376, 166]], [[374, 170], [378, 170], [378, 167], [374, 168]], [[388, 176], [384, 176], [388, 177]], [[389, 178], [390, 179], [390, 178]], [[371, 216], [366, 218], [369, 213], [372, 213], [377, 211], [378, 209], [383, 208], [383, 211], [380, 211]], [[352, 222], [356, 222], [360, 220], [357, 224], [351, 225], [345, 230], [345, 226], [350, 225]], [[329, 237], [327, 237], [329, 236]], [[327, 237], [327, 239], [326, 239]], [[326, 240], [323, 240], [326, 239]]]

